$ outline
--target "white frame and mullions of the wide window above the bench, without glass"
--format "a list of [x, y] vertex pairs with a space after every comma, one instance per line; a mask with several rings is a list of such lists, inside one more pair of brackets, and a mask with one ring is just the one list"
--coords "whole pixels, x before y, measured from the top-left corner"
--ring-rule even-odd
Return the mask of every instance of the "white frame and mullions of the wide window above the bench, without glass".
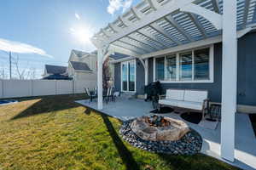
[[[209, 48], [209, 79], [208, 80], [195, 80], [195, 50], [199, 50], [199, 49], [204, 49], [204, 48]], [[179, 64], [179, 60], [180, 60], [180, 54], [186, 53], [186, 52], [191, 52], [192, 53], [192, 80], [187, 80], [187, 81], [182, 81], [179, 79], [180, 75], [179, 75], [179, 71], [180, 71], [180, 64]], [[166, 80], [166, 57], [170, 56], [170, 55], [174, 55], [176, 54], [176, 80], [175, 81], [167, 81]], [[214, 82], [214, 45], [210, 45], [210, 46], [204, 46], [201, 48], [191, 48], [188, 50], [183, 50], [183, 51], [178, 51], [176, 53], [172, 53], [172, 54], [166, 54], [166, 55], [160, 55], [157, 57], [153, 58], [153, 80], [154, 82], [156, 81], [156, 75], [155, 75], [155, 59], [156, 58], [161, 58], [164, 57], [165, 58], [165, 81], [160, 81], [161, 83], [213, 83]]]

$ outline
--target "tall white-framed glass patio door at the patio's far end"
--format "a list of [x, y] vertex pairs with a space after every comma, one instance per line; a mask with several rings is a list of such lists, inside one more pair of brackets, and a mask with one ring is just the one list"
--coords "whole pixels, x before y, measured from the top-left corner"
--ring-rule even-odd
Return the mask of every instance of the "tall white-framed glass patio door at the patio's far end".
[[125, 92], [135, 92], [136, 62], [135, 60], [121, 63], [121, 88]]

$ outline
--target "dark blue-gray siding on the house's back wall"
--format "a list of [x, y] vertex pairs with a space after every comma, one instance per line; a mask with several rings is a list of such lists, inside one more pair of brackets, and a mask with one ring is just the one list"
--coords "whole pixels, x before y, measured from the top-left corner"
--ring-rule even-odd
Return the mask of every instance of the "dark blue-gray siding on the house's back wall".
[[[256, 32], [238, 40], [237, 102], [240, 105], [256, 105]], [[143, 65], [137, 60], [137, 93], [143, 94]], [[153, 58], [148, 60], [148, 81], [153, 82]], [[115, 86], [120, 87], [119, 64], [115, 65]], [[221, 102], [222, 43], [214, 44], [213, 83], [162, 83], [164, 93], [167, 88], [207, 89], [212, 102]], [[119, 88], [117, 88], [119, 89]]]

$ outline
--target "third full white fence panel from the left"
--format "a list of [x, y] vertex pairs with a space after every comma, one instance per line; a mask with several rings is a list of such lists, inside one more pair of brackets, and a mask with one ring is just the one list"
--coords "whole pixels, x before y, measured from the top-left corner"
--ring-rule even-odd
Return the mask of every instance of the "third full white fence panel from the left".
[[57, 94], [73, 94], [73, 81], [58, 80], [56, 83]]

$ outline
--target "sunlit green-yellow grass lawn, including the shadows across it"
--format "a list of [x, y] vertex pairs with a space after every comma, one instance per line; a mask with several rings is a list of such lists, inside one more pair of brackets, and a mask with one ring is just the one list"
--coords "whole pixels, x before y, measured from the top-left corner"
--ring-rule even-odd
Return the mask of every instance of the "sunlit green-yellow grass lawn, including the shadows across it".
[[133, 148], [119, 138], [119, 120], [88, 111], [75, 99], [83, 96], [0, 106], [0, 169], [236, 169], [201, 154], [168, 156]]

